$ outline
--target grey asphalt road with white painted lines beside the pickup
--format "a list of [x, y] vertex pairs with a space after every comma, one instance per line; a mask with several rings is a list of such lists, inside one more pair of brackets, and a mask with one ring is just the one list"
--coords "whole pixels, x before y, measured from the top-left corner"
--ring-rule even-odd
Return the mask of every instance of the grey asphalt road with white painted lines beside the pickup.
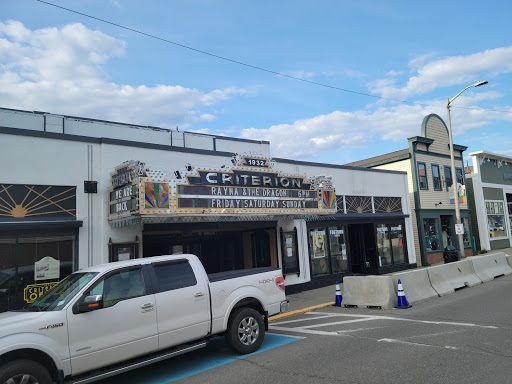
[[506, 276], [410, 309], [323, 308], [271, 323], [301, 339], [175, 382], [509, 383], [511, 296]]

